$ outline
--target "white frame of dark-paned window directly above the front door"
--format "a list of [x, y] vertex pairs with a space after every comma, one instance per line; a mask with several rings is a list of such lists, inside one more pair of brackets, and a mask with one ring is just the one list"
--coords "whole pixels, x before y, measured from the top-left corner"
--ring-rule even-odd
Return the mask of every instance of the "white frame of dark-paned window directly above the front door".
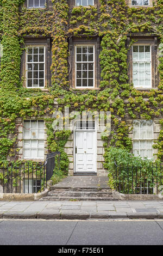
[[[77, 62], [77, 47], [93, 47], [93, 62]], [[93, 63], [93, 86], [77, 86], [77, 63]], [[83, 70], [81, 70], [83, 71]], [[83, 78], [81, 78], [83, 79]], [[88, 78], [87, 78], [88, 79]], [[76, 44], [75, 45], [75, 87], [77, 89], [91, 89], [91, 88], [95, 88], [95, 44]]]

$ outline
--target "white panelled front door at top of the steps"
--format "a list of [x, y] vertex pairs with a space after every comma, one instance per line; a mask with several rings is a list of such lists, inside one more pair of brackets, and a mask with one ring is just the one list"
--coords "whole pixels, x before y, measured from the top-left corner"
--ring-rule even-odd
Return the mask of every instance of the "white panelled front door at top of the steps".
[[76, 131], [75, 172], [96, 172], [96, 132]]

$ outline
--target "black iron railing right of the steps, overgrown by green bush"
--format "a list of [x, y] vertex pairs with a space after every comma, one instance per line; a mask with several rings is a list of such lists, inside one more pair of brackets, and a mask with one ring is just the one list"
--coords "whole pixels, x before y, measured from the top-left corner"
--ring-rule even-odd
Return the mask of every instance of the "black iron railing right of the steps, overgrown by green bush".
[[[113, 172], [116, 191], [124, 194], [159, 194], [163, 190], [163, 164], [135, 166], [115, 162]], [[162, 187], [161, 187], [162, 186]]]

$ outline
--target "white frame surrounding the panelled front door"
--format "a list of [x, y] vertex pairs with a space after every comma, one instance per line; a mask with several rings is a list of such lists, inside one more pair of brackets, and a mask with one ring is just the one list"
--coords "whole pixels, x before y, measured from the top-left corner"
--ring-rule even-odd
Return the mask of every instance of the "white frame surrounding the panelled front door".
[[[97, 173], [97, 130], [96, 130], [96, 123], [95, 123], [95, 130], [93, 129], [87, 129], [87, 130], [80, 130], [80, 129], [76, 129], [74, 130], [74, 147], [73, 147], [73, 159], [74, 159], [74, 166], [73, 166], [73, 173], [74, 174], [77, 174], [79, 172], [76, 172], [76, 132], [94, 132], [95, 133], [95, 172], [93, 172], [93, 174], [96, 174]], [[83, 174], [85, 172], [82, 172]], [[87, 172], [89, 173], [89, 172]], [[92, 172], [90, 172], [90, 175], [92, 174]]]

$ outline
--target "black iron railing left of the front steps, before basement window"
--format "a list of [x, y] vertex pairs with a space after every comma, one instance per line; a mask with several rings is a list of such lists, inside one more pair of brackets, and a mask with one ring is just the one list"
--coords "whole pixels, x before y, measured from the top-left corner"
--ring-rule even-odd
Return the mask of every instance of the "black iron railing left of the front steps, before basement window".
[[53, 170], [60, 169], [60, 152], [47, 155], [45, 162], [1, 164], [0, 186], [3, 193], [37, 193], [47, 187]]

